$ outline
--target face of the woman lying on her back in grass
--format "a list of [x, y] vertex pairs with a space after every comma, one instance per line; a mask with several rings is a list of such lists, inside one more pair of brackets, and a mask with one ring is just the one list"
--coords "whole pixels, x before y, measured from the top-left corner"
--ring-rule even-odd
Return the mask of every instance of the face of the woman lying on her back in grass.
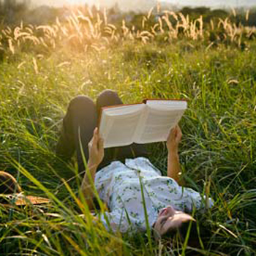
[[167, 206], [159, 211], [157, 221], [154, 224], [154, 230], [157, 231], [159, 236], [163, 236], [167, 231], [176, 229], [183, 222], [190, 220], [195, 221], [191, 215], [185, 214], [183, 211], [176, 211], [173, 206]]

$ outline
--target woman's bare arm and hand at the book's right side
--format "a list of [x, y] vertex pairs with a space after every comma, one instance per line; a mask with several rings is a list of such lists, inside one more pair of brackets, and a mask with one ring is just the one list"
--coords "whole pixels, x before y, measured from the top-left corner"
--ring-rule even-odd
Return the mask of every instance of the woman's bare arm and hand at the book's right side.
[[168, 149], [167, 176], [177, 181], [180, 186], [183, 185], [180, 179], [181, 167], [178, 157], [178, 144], [181, 142], [181, 137], [181, 128], [177, 125], [170, 130], [166, 143]]

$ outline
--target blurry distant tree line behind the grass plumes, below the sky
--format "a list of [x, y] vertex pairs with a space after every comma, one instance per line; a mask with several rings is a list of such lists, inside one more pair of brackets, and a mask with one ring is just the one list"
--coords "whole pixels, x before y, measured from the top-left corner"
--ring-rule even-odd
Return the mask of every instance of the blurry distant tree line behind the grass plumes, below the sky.
[[[2, 26], [12, 26], [17, 25], [23, 20], [24, 23], [52, 23], [56, 20], [56, 17], [60, 17], [66, 10], [64, 7], [37, 7], [35, 9], [30, 9], [30, 0], [0, 0], [0, 23]], [[86, 8], [85, 8], [86, 7]], [[45, 9], [42, 10], [42, 8]], [[83, 10], [87, 10], [88, 5], [83, 6]], [[101, 12], [98, 11], [95, 6], [92, 6], [91, 12]], [[40, 12], [43, 12], [43, 15], [39, 15]], [[233, 23], [237, 25], [241, 23], [244, 26], [256, 26], [256, 8], [251, 10], [222, 10], [215, 9], [211, 10], [208, 7], [183, 7], [179, 10], [185, 17], [189, 15], [191, 20], [197, 19], [200, 15], [203, 16], [203, 21], [205, 24], [210, 23], [211, 20], [217, 20], [219, 18], [225, 19], [229, 18]], [[101, 12], [102, 13], [102, 12]], [[128, 15], [129, 23], [133, 26], [139, 26], [141, 23], [141, 17], [145, 13], [138, 12], [121, 12], [118, 8], [118, 4], [115, 4], [113, 7], [107, 10], [107, 15], [110, 23], [121, 23], [122, 20]], [[152, 17], [157, 17], [159, 12], [153, 12]]]

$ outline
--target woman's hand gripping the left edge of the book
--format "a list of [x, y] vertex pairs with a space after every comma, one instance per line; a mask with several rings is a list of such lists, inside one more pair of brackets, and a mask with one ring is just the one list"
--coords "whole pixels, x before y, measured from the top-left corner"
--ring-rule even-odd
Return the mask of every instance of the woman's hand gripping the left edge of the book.
[[89, 166], [96, 166], [102, 162], [104, 157], [103, 139], [99, 136], [99, 129], [94, 129], [94, 136], [88, 144], [89, 147]]

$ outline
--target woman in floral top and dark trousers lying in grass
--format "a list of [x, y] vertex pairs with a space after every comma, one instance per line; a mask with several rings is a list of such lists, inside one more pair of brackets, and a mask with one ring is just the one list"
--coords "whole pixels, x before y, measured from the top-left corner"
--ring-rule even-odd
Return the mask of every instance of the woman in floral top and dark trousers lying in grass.
[[[195, 219], [187, 212], [203, 208], [205, 200], [198, 192], [181, 187], [178, 144], [182, 134], [178, 126], [167, 138], [166, 177], [146, 158], [143, 145], [104, 150], [96, 128], [99, 110], [121, 103], [116, 92], [110, 90], [99, 95], [97, 105], [89, 97], [72, 99], [64, 117], [57, 154], [68, 159], [76, 150], [80, 172], [86, 169], [84, 155], [88, 169], [81, 191], [91, 209], [94, 186], [100, 199], [107, 203], [109, 211], [99, 216], [107, 229], [126, 233], [150, 228], [159, 237], [173, 231], [187, 233], [189, 223], [196, 230]], [[212, 205], [211, 200], [209, 204]]]

